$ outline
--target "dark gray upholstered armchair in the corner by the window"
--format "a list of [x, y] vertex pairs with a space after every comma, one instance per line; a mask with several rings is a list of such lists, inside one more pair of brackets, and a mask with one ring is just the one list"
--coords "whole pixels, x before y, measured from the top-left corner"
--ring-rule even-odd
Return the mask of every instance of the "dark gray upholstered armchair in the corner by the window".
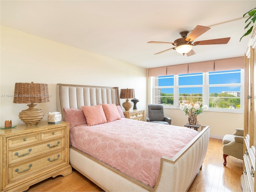
[[164, 106], [162, 104], [148, 104], [147, 122], [170, 125], [172, 119], [164, 116]]

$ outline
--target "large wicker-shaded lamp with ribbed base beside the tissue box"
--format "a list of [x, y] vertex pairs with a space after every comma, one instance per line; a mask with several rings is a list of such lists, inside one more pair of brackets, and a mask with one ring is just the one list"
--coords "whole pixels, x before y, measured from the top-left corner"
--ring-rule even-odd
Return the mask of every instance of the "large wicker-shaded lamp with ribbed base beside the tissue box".
[[27, 126], [35, 126], [44, 117], [44, 112], [37, 109], [37, 104], [49, 102], [48, 84], [40, 83], [15, 83], [14, 103], [30, 103], [28, 109], [22, 110], [19, 118]]

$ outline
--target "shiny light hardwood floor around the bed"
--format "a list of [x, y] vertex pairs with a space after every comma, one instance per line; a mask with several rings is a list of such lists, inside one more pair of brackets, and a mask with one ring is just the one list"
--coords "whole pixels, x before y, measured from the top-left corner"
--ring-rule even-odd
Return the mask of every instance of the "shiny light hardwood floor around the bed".
[[[189, 162], [193, 164], [193, 162]], [[188, 191], [235, 192], [242, 191], [240, 176], [243, 161], [232, 156], [227, 157], [227, 165], [223, 166], [222, 140], [210, 138], [208, 150], [202, 170], [199, 171]], [[56, 178], [48, 178], [31, 186], [30, 192], [85, 192], [102, 191], [82, 174], [73, 170], [72, 174]]]

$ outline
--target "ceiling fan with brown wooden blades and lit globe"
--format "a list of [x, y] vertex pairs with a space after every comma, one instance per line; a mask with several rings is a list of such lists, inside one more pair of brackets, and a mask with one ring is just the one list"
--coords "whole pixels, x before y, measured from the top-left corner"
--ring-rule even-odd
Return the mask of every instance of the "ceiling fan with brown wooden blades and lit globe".
[[181, 53], [183, 55], [186, 54], [187, 56], [192, 56], [196, 54], [196, 52], [192, 50], [192, 46], [227, 44], [229, 42], [230, 37], [193, 42], [194, 39], [198, 38], [200, 35], [204, 34], [209, 29], [210, 29], [209, 27], [198, 25], [190, 32], [189, 35], [188, 35], [189, 33], [188, 31], [180, 32], [180, 35], [182, 36], [182, 38], [176, 39], [174, 42], [150, 41], [148, 43], [164, 43], [164, 44], [172, 44], [173, 46], [175, 46], [173, 48], [155, 53], [154, 55], [174, 49], [178, 53]]

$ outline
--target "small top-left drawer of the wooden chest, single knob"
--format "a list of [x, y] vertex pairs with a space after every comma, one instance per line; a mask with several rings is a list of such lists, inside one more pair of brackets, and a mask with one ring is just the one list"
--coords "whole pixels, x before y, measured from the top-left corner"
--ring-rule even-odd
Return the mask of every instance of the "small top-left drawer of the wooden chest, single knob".
[[8, 139], [9, 148], [16, 147], [16, 146], [23, 146], [30, 143], [34, 143], [40, 141], [40, 134], [27, 134], [24, 136], [13, 137]]

